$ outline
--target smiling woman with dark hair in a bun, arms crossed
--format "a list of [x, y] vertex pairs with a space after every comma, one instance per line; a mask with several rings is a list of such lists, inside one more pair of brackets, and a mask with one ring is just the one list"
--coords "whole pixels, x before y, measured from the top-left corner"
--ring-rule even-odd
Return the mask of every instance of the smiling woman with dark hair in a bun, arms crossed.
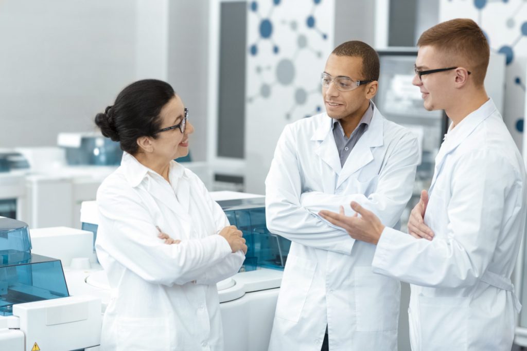
[[121, 166], [97, 191], [95, 248], [111, 287], [103, 350], [221, 350], [216, 283], [247, 246], [201, 180], [173, 159], [194, 127], [172, 87], [135, 82], [95, 117]]

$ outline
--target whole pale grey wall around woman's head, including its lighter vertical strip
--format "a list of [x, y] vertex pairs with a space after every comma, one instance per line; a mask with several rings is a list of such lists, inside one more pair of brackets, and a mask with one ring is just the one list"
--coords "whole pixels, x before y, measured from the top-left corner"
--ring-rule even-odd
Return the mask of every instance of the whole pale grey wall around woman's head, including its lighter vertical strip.
[[204, 161], [208, 4], [0, 1], [0, 147], [54, 146], [59, 132], [96, 131], [95, 114], [124, 86], [157, 78], [190, 108], [191, 154]]

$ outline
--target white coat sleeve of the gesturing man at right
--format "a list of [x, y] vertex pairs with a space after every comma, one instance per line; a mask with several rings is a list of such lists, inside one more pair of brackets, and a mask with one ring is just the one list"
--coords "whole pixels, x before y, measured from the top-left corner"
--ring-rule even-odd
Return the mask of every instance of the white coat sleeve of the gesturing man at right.
[[[506, 196], [521, 196], [521, 191], [510, 190], [515, 183], [511, 174], [518, 172], [499, 153], [484, 151], [460, 157], [451, 172], [447, 232], [435, 233], [428, 241], [385, 228], [373, 259], [375, 273], [452, 288], [472, 286], [483, 275], [496, 250], [502, 220], [509, 217], [504, 216]], [[431, 199], [436, 191], [441, 190], [432, 190]]]

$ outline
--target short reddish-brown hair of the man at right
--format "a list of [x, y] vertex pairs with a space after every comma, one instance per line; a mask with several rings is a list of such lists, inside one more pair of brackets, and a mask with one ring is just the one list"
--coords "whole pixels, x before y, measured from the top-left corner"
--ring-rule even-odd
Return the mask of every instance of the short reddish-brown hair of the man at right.
[[417, 46], [432, 46], [444, 52], [449, 66], [468, 65], [474, 84], [483, 85], [491, 53], [485, 34], [472, 19], [451, 19], [428, 28]]

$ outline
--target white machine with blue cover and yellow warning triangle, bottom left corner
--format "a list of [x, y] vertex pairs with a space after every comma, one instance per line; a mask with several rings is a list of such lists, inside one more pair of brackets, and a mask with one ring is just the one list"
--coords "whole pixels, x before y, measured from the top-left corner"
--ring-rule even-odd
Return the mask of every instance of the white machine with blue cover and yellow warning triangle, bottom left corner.
[[32, 252], [27, 224], [0, 217], [0, 258], [0, 350], [99, 349], [100, 299], [69, 295], [61, 261]]

